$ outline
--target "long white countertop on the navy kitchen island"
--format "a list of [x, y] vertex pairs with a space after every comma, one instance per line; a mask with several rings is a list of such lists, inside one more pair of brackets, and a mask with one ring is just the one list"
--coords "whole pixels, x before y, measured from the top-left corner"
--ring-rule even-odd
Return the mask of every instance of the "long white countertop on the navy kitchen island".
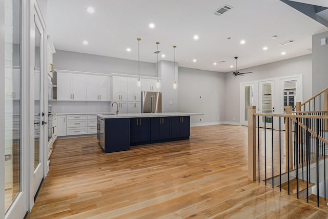
[[161, 113], [118, 113], [118, 115], [97, 114], [101, 118], [142, 118], [142, 117], [169, 117], [169, 116], [191, 116], [203, 115], [203, 113], [187, 113], [187, 112], [161, 112]]

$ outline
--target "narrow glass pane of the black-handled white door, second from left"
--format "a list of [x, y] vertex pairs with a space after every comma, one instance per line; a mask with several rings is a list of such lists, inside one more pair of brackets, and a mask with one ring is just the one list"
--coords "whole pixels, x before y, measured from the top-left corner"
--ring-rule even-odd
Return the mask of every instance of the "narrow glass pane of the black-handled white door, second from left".
[[40, 43], [41, 33], [35, 25], [35, 53], [34, 53], [34, 169], [40, 163]]

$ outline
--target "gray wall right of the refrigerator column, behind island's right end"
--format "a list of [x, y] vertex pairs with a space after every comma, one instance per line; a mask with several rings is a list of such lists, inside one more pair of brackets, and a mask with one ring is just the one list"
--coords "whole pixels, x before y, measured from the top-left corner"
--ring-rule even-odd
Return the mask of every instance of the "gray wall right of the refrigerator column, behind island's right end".
[[182, 67], [178, 70], [178, 111], [204, 114], [191, 116], [191, 124], [210, 125], [223, 122], [226, 99], [224, 74]]

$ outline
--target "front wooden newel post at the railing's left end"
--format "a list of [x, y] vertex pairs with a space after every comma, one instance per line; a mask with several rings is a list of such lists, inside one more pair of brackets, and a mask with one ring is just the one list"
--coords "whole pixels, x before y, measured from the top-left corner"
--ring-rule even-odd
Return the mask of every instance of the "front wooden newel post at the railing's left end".
[[248, 106], [248, 178], [256, 181], [256, 113], [255, 106]]

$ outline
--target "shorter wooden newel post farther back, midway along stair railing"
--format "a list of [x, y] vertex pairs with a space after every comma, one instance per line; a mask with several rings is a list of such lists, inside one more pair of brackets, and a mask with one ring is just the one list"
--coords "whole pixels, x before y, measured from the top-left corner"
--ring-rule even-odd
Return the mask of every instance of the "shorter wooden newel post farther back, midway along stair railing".
[[[292, 106], [286, 106], [286, 115], [292, 115]], [[285, 136], [286, 136], [286, 171], [288, 171], [288, 151], [289, 151], [289, 168], [293, 169], [293, 127], [291, 117], [285, 120]]]

